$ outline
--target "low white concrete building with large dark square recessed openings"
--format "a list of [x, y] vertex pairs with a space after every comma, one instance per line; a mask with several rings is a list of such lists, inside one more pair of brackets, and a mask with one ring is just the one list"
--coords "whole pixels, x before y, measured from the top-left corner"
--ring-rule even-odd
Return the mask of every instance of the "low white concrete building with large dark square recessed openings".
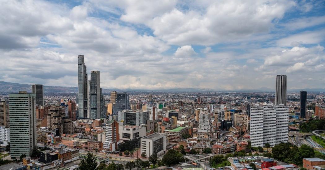
[[120, 140], [130, 141], [146, 136], [146, 128], [140, 126], [119, 126]]

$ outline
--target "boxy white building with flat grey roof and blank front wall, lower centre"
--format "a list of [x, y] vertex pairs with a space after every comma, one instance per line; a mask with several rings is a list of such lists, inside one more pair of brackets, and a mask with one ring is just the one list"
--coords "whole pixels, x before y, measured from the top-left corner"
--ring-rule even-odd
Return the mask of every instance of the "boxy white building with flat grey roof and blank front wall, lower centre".
[[168, 145], [167, 136], [163, 133], [153, 133], [141, 138], [141, 153], [145, 153], [147, 157], [152, 154], [161, 155], [166, 152]]

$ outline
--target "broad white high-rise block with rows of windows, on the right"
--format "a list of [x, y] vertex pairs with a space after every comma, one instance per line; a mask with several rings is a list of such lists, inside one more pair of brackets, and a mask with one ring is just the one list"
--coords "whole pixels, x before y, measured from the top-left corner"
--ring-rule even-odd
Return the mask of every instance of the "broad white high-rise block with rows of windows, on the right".
[[284, 104], [251, 106], [252, 146], [264, 146], [265, 143], [275, 146], [288, 142], [288, 120], [289, 108]]

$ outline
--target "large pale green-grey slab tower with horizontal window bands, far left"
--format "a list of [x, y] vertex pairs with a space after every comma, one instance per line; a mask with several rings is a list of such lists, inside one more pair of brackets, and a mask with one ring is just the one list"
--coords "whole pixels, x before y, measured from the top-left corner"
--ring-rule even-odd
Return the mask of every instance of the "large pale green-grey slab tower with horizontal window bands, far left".
[[30, 156], [36, 146], [36, 95], [21, 91], [9, 94], [10, 154]]

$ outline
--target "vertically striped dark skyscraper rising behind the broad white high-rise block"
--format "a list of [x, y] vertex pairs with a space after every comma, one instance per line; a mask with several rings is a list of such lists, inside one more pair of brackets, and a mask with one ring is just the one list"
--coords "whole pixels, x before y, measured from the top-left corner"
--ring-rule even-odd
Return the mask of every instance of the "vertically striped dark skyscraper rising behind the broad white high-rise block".
[[287, 76], [277, 75], [277, 85], [275, 92], [275, 105], [279, 104], [287, 105]]

